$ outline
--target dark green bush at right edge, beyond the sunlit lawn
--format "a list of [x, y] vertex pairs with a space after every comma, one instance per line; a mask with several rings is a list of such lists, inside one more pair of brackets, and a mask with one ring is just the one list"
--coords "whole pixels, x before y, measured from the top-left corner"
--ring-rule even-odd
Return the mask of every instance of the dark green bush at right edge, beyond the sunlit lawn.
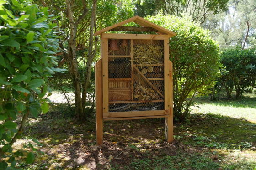
[[[235, 87], [236, 97], [240, 97], [246, 88], [256, 85], [256, 52], [252, 49], [227, 49], [221, 53], [220, 62], [227, 72], [221, 77], [224, 86]], [[229, 97], [229, 96], [228, 96]]]

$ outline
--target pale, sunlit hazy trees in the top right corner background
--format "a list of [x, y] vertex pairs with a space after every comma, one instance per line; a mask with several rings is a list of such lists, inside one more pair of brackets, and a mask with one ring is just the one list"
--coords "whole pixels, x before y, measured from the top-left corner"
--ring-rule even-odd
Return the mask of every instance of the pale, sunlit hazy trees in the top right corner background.
[[229, 10], [212, 15], [203, 27], [209, 29], [219, 47], [253, 47], [255, 44], [256, 0], [230, 1]]

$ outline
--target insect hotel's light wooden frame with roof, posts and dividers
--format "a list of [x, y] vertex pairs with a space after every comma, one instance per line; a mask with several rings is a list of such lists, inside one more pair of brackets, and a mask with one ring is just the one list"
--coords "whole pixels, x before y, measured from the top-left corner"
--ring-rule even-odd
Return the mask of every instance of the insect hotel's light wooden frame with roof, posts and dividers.
[[[161, 35], [149, 35], [149, 34], [112, 34], [103, 33], [116, 26], [121, 26], [125, 23], [133, 21], [141, 24], [142, 26], [150, 26], [152, 28], [161, 30], [158, 33]], [[127, 21], [120, 22], [116, 25], [105, 28], [101, 31], [97, 31], [95, 35], [101, 35], [101, 59], [96, 62], [95, 65], [95, 83], [96, 83], [96, 141], [97, 144], [103, 144], [103, 120], [131, 120], [131, 119], [148, 119], [148, 118], [165, 118], [166, 127], [166, 140], [167, 142], [173, 141], [173, 89], [172, 89], [172, 63], [169, 60], [169, 38], [176, 34], [168, 31], [160, 26], [157, 26], [143, 18], [135, 16], [128, 19]], [[121, 24], [121, 25], [120, 25]], [[166, 34], [166, 35], [165, 35]], [[130, 55], [109, 55], [108, 53], [108, 39], [128, 39], [130, 40]], [[164, 46], [164, 64], [149, 64], [149, 66], [164, 66], [163, 77], [160, 78], [146, 78], [144, 74], [138, 69], [140, 65], [133, 64], [133, 40], [163, 40]], [[134, 42], [135, 43], [135, 42]], [[108, 78], [108, 64], [113, 58], [130, 58], [131, 59], [131, 78]], [[115, 59], [116, 60], [116, 59]], [[110, 67], [111, 68], [111, 67]], [[133, 72], [138, 72], [139, 77], [142, 77], [144, 82], [149, 84], [151, 89], [154, 89], [158, 95], [163, 99], [159, 98], [151, 101], [138, 101], [133, 98]], [[150, 81], [164, 81], [164, 92], [160, 92]], [[135, 81], [136, 83], [136, 81]], [[128, 98], [121, 98], [117, 100], [119, 91], [120, 94], [126, 95], [129, 93], [131, 96]], [[110, 98], [109, 95], [116, 95], [114, 99]], [[122, 100], [123, 99], [123, 100]], [[164, 103], [163, 110], [146, 110], [146, 111], [115, 111], [113, 110], [113, 104], [118, 103]], [[134, 105], [134, 104], [133, 104]], [[135, 104], [136, 105], [136, 104]], [[119, 105], [120, 106], [120, 105]], [[122, 105], [121, 105], [122, 106]], [[130, 106], [130, 105], [129, 105]]]

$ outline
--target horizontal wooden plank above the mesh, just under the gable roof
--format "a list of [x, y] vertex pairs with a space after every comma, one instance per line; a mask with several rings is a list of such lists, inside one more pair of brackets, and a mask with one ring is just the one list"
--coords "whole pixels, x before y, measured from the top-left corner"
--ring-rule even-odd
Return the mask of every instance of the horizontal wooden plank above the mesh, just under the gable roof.
[[168, 35], [156, 34], [113, 34], [102, 33], [103, 38], [107, 39], [139, 39], [139, 40], [169, 40]]

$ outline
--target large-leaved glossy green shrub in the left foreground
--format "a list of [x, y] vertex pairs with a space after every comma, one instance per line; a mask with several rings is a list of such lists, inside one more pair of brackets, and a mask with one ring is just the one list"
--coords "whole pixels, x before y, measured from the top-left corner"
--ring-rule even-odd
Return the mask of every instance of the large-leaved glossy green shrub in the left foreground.
[[[1, 170], [7, 168], [7, 162], [14, 168], [15, 157], [24, 155], [22, 149], [13, 153], [12, 145], [23, 135], [28, 114], [37, 118], [38, 111], [42, 109], [46, 113], [49, 109], [47, 102], [50, 100], [43, 98], [47, 91], [50, 92], [48, 77], [54, 71], [61, 71], [53, 67], [58, 36], [53, 33], [56, 23], [52, 23], [50, 17], [48, 8], [39, 10], [31, 0], [0, 1]], [[23, 114], [19, 129], [15, 122], [17, 114]], [[40, 144], [36, 139], [32, 140]], [[39, 155], [31, 143], [24, 144], [23, 148], [27, 147]], [[27, 164], [34, 158], [35, 155], [29, 153]]]

